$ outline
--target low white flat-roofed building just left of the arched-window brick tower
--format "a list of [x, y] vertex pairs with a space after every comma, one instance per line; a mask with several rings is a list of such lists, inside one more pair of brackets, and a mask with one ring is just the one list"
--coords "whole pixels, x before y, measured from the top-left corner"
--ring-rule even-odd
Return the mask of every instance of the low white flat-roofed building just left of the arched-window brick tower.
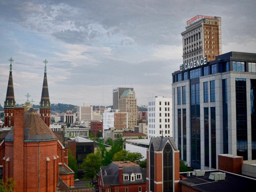
[[149, 147], [150, 139], [127, 139], [125, 140], [125, 150], [132, 153], [141, 153], [144, 160], [147, 158], [147, 150]]

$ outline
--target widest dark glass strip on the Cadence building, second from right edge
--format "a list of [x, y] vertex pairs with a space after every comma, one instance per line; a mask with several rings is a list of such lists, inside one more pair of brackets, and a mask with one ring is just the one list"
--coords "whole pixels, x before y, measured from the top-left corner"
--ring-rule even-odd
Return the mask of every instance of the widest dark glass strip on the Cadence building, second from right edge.
[[248, 159], [246, 79], [236, 78], [236, 147], [237, 155]]

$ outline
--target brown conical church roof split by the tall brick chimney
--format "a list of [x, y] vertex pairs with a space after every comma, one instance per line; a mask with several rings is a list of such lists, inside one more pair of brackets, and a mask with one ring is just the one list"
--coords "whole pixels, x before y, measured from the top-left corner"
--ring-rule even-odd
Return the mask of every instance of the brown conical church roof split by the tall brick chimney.
[[[13, 142], [13, 129], [6, 135], [5, 141]], [[24, 114], [24, 142], [57, 140], [52, 130], [44, 123], [33, 108]]]

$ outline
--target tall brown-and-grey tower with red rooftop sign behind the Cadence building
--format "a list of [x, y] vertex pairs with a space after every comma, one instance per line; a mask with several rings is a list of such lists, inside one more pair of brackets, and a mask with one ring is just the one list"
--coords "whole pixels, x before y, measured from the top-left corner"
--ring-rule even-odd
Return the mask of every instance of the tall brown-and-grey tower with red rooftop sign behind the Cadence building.
[[183, 42], [183, 64], [206, 57], [215, 60], [222, 53], [221, 18], [197, 15], [187, 21], [181, 33]]

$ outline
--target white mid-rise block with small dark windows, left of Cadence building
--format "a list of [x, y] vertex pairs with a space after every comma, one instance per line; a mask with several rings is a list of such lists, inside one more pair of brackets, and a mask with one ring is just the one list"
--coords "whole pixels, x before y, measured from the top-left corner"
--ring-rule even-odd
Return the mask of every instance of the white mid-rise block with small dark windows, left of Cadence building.
[[148, 99], [148, 139], [172, 137], [172, 99], [155, 96]]

